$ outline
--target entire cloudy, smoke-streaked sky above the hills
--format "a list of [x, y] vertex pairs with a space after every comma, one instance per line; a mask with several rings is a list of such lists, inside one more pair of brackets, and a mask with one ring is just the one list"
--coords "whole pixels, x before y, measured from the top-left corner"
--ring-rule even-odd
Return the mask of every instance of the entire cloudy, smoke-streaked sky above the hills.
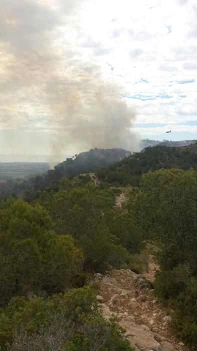
[[0, 7], [0, 154], [197, 138], [196, 0]]

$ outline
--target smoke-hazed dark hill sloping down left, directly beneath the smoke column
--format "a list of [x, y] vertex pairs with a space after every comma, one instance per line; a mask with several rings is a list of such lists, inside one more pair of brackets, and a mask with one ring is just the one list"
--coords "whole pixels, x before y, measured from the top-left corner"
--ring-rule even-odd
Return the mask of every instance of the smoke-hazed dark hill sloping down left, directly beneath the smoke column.
[[62, 177], [72, 177], [73, 175], [94, 171], [101, 167], [107, 167], [121, 159], [131, 155], [130, 151], [114, 149], [90, 149], [75, 155], [75, 158], [66, 158], [58, 163], [54, 169], [37, 174], [28, 180], [9, 180], [7, 183], [0, 183], [0, 199], [6, 198], [9, 194], [16, 196], [24, 193], [35, 196], [36, 192], [50, 189], [56, 186]]

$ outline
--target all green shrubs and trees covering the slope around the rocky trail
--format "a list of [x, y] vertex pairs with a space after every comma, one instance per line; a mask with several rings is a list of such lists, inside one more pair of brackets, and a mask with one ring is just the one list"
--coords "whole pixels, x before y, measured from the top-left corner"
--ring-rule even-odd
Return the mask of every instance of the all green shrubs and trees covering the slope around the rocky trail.
[[[103, 319], [88, 281], [113, 267], [138, 271], [133, 261], [147, 241], [160, 265], [155, 293], [196, 349], [196, 146], [148, 148], [99, 170], [98, 185], [63, 177], [31, 201], [1, 202], [1, 350], [131, 350], [115, 321]], [[122, 178], [112, 181], [110, 172]], [[133, 177], [137, 186], [128, 186]]]

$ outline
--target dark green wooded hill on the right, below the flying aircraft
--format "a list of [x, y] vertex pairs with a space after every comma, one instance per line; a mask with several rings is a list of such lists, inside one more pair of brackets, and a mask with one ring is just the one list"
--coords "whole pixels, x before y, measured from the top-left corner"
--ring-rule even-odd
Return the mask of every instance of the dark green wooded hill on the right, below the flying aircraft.
[[109, 185], [137, 186], [141, 174], [160, 168], [197, 169], [197, 143], [182, 147], [147, 147], [115, 165], [96, 172]]

